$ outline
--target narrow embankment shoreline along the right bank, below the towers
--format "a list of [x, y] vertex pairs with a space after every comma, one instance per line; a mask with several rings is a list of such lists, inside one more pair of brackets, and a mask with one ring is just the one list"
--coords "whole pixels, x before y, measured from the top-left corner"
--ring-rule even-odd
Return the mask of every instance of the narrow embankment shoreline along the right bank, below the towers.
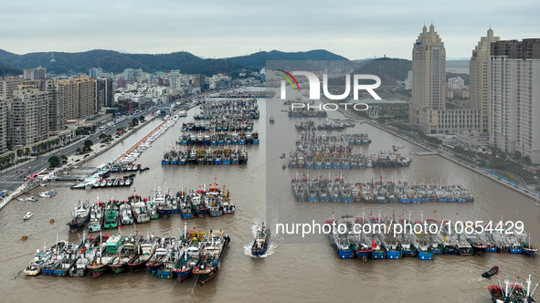
[[[330, 103], [330, 101], [328, 101], [327, 99], [325, 99], [324, 97], [321, 98], [321, 102], [323, 103]], [[506, 186], [507, 188], [513, 190], [514, 192], [517, 192], [517, 193], [521, 193], [523, 194], [525, 197], [535, 201], [536, 197], [540, 197], [540, 194], [533, 194], [533, 193], [529, 193], [529, 192], [524, 192], [524, 191], [530, 191], [530, 192], [533, 192], [532, 190], [529, 190], [527, 188], [524, 188], [524, 187], [519, 187], [519, 188], [516, 188], [515, 185], [513, 184], [509, 184], [509, 183], [506, 183], [504, 182], [503, 180], [499, 180], [497, 177], [493, 176], [492, 174], [490, 173], [484, 173], [485, 170], [483, 169], [480, 169], [480, 168], [477, 168], [476, 165], [474, 164], [468, 164], [468, 163], [465, 163], [465, 162], [461, 162], [460, 160], [454, 158], [452, 155], [450, 155], [450, 153], [448, 151], [443, 151], [439, 148], [434, 148], [434, 147], [429, 147], [429, 145], [423, 145], [423, 144], [420, 144], [419, 142], [417, 141], [413, 141], [411, 139], [409, 139], [407, 136], [401, 134], [401, 133], [398, 133], [394, 130], [391, 130], [389, 128], [387, 128], [386, 126], [374, 121], [374, 120], [368, 120], [368, 119], [363, 119], [363, 118], [360, 118], [360, 117], [356, 117], [355, 115], [351, 114], [350, 112], [347, 112], [345, 111], [344, 109], [341, 109], [341, 108], [338, 108], [338, 111], [340, 113], [342, 113], [344, 115], [345, 118], [348, 118], [348, 119], [353, 119], [353, 120], [362, 120], [364, 121], [365, 123], [373, 126], [373, 127], [376, 127], [377, 129], [381, 130], [381, 131], [386, 131], [387, 133], [397, 137], [397, 138], [400, 138], [400, 139], [403, 139], [405, 141], [408, 141], [409, 143], [412, 143], [418, 147], [421, 147], [423, 149], [427, 149], [428, 151], [435, 151], [437, 152], [437, 155], [446, 159], [446, 160], [449, 160], [451, 162], [454, 162], [458, 165], [461, 165], [462, 167], [470, 170], [471, 172], [476, 172], [480, 175], [482, 175], [483, 177], [487, 178], [487, 179], [490, 179], [496, 183], [500, 183], [500, 184], [503, 184], [504, 186]]]

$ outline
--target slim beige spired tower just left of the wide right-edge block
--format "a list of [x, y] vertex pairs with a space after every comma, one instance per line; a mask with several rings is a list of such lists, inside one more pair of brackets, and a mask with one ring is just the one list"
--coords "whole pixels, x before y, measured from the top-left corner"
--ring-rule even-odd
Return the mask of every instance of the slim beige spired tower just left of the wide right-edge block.
[[490, 95], [491, 95], [491, 64], [490, 53], [491, 44], [494, 41], [499, 41], [499, 37], [493, 37], [493, 30], [488, 30], [488, 35], [482, 37], [478, 45], [472, 50], [471, 61], [469, 61], [470, 71], [470, 96], [471, 108], [480, 110], [482, 132], [489, 130], [490, 118]]

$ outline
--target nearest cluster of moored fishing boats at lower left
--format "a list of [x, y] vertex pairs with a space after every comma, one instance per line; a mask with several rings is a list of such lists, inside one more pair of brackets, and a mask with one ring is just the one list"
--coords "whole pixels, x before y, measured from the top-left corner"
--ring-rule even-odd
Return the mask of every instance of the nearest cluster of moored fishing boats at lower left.
[[158, 278], [183, 281], [196, 275], [205, 285], [216, 277], [230, 241], [222, 230], [199, 232], [196, 227], [178, 237], [147, 235], [98, 235], [79, 244], [58, 241], [36, 255], [24, 270], [27, 276], [100, 277], [147, 267]]

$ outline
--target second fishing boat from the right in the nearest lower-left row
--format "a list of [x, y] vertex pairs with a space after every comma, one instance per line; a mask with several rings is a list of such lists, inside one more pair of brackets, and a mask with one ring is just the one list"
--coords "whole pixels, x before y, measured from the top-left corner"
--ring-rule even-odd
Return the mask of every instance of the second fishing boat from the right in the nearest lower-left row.
[[176, 277], [178, 277], [178, 282], [182, 282], [190, 277], [193, 273], [193, 268], [199, 265], [202, 247], [205, 243], [205, 233], [197, 232], [194, 227], [194, 230], [189, 235], [185, 233], [184, 239], [188, 242], [188, 245], [184, 250], [184, 254], [182, 254], [176, 263], [175, 268], [173, 268]]

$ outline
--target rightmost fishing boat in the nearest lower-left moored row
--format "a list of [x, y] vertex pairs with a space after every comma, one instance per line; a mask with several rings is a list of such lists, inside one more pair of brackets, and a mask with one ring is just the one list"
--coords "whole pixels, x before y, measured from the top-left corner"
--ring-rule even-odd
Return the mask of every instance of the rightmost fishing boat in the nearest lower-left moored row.
[[202, 260], [198, 266], [193, 268], [193, 274], [198, 275], [197, 279], [201, 286], [204, 286], [219, 273], [225, 250], [230, 241], [228, 235], [223, 235], [221, 230], [218, 233], [210, 230], [208, 235], [203, 244]]

